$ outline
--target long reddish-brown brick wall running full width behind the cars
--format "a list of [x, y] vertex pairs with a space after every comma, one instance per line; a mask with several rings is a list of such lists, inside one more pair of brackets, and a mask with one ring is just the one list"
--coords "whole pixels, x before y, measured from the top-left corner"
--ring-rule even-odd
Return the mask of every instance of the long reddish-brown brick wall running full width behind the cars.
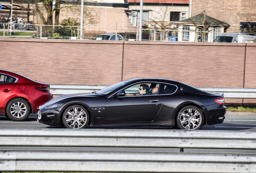
[[0, 38], [0, 48], [1, 69], [52, 84], [110, 85], [159, 77], [195, 87], [256, 88], [254, 43]]

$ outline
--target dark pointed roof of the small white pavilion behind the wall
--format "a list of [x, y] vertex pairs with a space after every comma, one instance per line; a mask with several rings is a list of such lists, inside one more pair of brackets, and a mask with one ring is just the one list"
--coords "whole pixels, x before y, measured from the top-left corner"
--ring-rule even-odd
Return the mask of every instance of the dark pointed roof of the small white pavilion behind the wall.
[[207, 16], [206, 14], [198, 14], [196, 16], [193, 16], [191, 18], [187, 18], [184, 20], [181, 20], [180, 22], [195, 22], [195, 23], [202, 23], [204, 21], [204, 15], [205, 15], [205, 20], [208, 22], [208, 24], [212, 24], [212, 25], [229, 25], [225, 22], [222, 22], [216, 18], [212, 18], [210, 16]]

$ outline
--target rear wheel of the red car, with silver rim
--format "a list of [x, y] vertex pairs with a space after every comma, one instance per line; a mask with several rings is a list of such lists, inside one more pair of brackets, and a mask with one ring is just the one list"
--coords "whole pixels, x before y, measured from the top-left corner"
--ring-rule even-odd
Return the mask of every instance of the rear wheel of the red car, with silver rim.
[[29, 117], [30, 106], [24, 99], [13, 99], [6, 107], [6, 115], [12, 121], [24, 121]]

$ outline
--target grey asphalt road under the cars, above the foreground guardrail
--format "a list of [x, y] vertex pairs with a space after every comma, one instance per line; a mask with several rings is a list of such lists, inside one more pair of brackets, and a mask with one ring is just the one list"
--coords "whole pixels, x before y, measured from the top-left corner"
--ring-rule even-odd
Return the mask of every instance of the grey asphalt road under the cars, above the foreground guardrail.
[[[256, 131], [256, 114], [227, 113], [222, 124], [203, 126], [202, 130], [229, 130], [229, 131]], [[48, 126], [38, 123], [36, 114], [31, 114], [26, 121], [11, 121], [0, 117], [0, 129], [60, 129], [63, 127]], [[113, 126], [88, 126], [87, 128], [101, 129], [173, 129], [171, 127], [113, 127]]]

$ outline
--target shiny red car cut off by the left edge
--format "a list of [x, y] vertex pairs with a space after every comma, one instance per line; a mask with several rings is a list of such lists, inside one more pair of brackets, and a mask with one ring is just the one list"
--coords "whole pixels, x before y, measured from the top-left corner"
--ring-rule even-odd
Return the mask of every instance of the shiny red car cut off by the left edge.
[[51, 99], [49, 83], [0, 70], [0, 115], [13, 121], [23, 121], [30, 113], [37, 113], [37, 107]]

